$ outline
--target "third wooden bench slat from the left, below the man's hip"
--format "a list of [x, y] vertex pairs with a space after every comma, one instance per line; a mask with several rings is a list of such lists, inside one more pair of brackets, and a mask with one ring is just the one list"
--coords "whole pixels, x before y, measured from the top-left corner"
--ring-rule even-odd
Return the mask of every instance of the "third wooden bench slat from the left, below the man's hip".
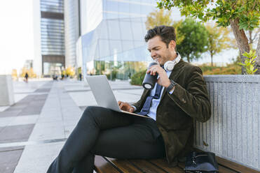
[[129, 160], [130, 163], [135, 165], [136, 167], [139, 168], [139, 170], [142, 170], [143, 172], [146, 173], [165, 173], [162, 169], [156, 167], [155, 165], [149, 163], [146, 160]]

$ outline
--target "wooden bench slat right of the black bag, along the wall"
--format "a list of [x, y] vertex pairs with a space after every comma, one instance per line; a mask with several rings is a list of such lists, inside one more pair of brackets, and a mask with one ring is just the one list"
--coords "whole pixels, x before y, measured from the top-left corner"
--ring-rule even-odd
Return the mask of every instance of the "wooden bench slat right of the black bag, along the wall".
[[232, 170], [242, 173], [259, 173], [259, 171], [253, 170], [249, 167], [245, 167], [243, 165], [239, 165], [238, 163], [233, 163], [232, 161], [226, 160], [224, 158], [220, 158], [216, 156], [217, 163], [220, 165], [224, 165], [225, 167], [230, 167]]

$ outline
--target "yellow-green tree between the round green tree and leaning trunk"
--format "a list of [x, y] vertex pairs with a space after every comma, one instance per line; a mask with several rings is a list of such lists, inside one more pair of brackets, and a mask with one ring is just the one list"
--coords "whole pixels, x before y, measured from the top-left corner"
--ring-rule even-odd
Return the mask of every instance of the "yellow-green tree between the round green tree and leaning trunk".
[[217, 24], [206, 25], [207, 38], [207, 52], [210, 53], [211, 66], [213, 66], [213, 56], [223, 50], [228, 50], [235, 47], [235, 40], [231, 39], [229, 35], [230, 29], [224, 27], [217, 27]]

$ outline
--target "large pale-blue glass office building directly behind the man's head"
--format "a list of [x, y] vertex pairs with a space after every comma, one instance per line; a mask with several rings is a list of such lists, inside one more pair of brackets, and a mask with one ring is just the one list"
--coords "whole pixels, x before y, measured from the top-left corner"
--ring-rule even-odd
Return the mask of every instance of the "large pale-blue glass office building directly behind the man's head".
[[[83, 75], [109, 74], [126, 80], [151, 61], [144, 36], [154, 0], [81, 1]], [[85, 26], [85, 27], [84, 27]], [[85, 32], [85, 34], [84, 34]], [[140, 63], [142, 61], [143, 63]]]

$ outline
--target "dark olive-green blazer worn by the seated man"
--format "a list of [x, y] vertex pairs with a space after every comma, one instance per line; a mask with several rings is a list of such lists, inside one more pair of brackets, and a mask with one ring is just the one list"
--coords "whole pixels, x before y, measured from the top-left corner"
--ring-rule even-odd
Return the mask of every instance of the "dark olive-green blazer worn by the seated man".
[[[193, 119], [205, 122], [210, 119], [211, 106], [203, 74], [199, 67], [182, 59], [169, 77], [177, 85], [172, 94], [166, 89], [157, 107], [156, 123], [165, 142], [166, 158], [175, 166], [193, 147]], [[141, 99], [133, 104], [141, 111], [149, 90], [144, 89]]]

